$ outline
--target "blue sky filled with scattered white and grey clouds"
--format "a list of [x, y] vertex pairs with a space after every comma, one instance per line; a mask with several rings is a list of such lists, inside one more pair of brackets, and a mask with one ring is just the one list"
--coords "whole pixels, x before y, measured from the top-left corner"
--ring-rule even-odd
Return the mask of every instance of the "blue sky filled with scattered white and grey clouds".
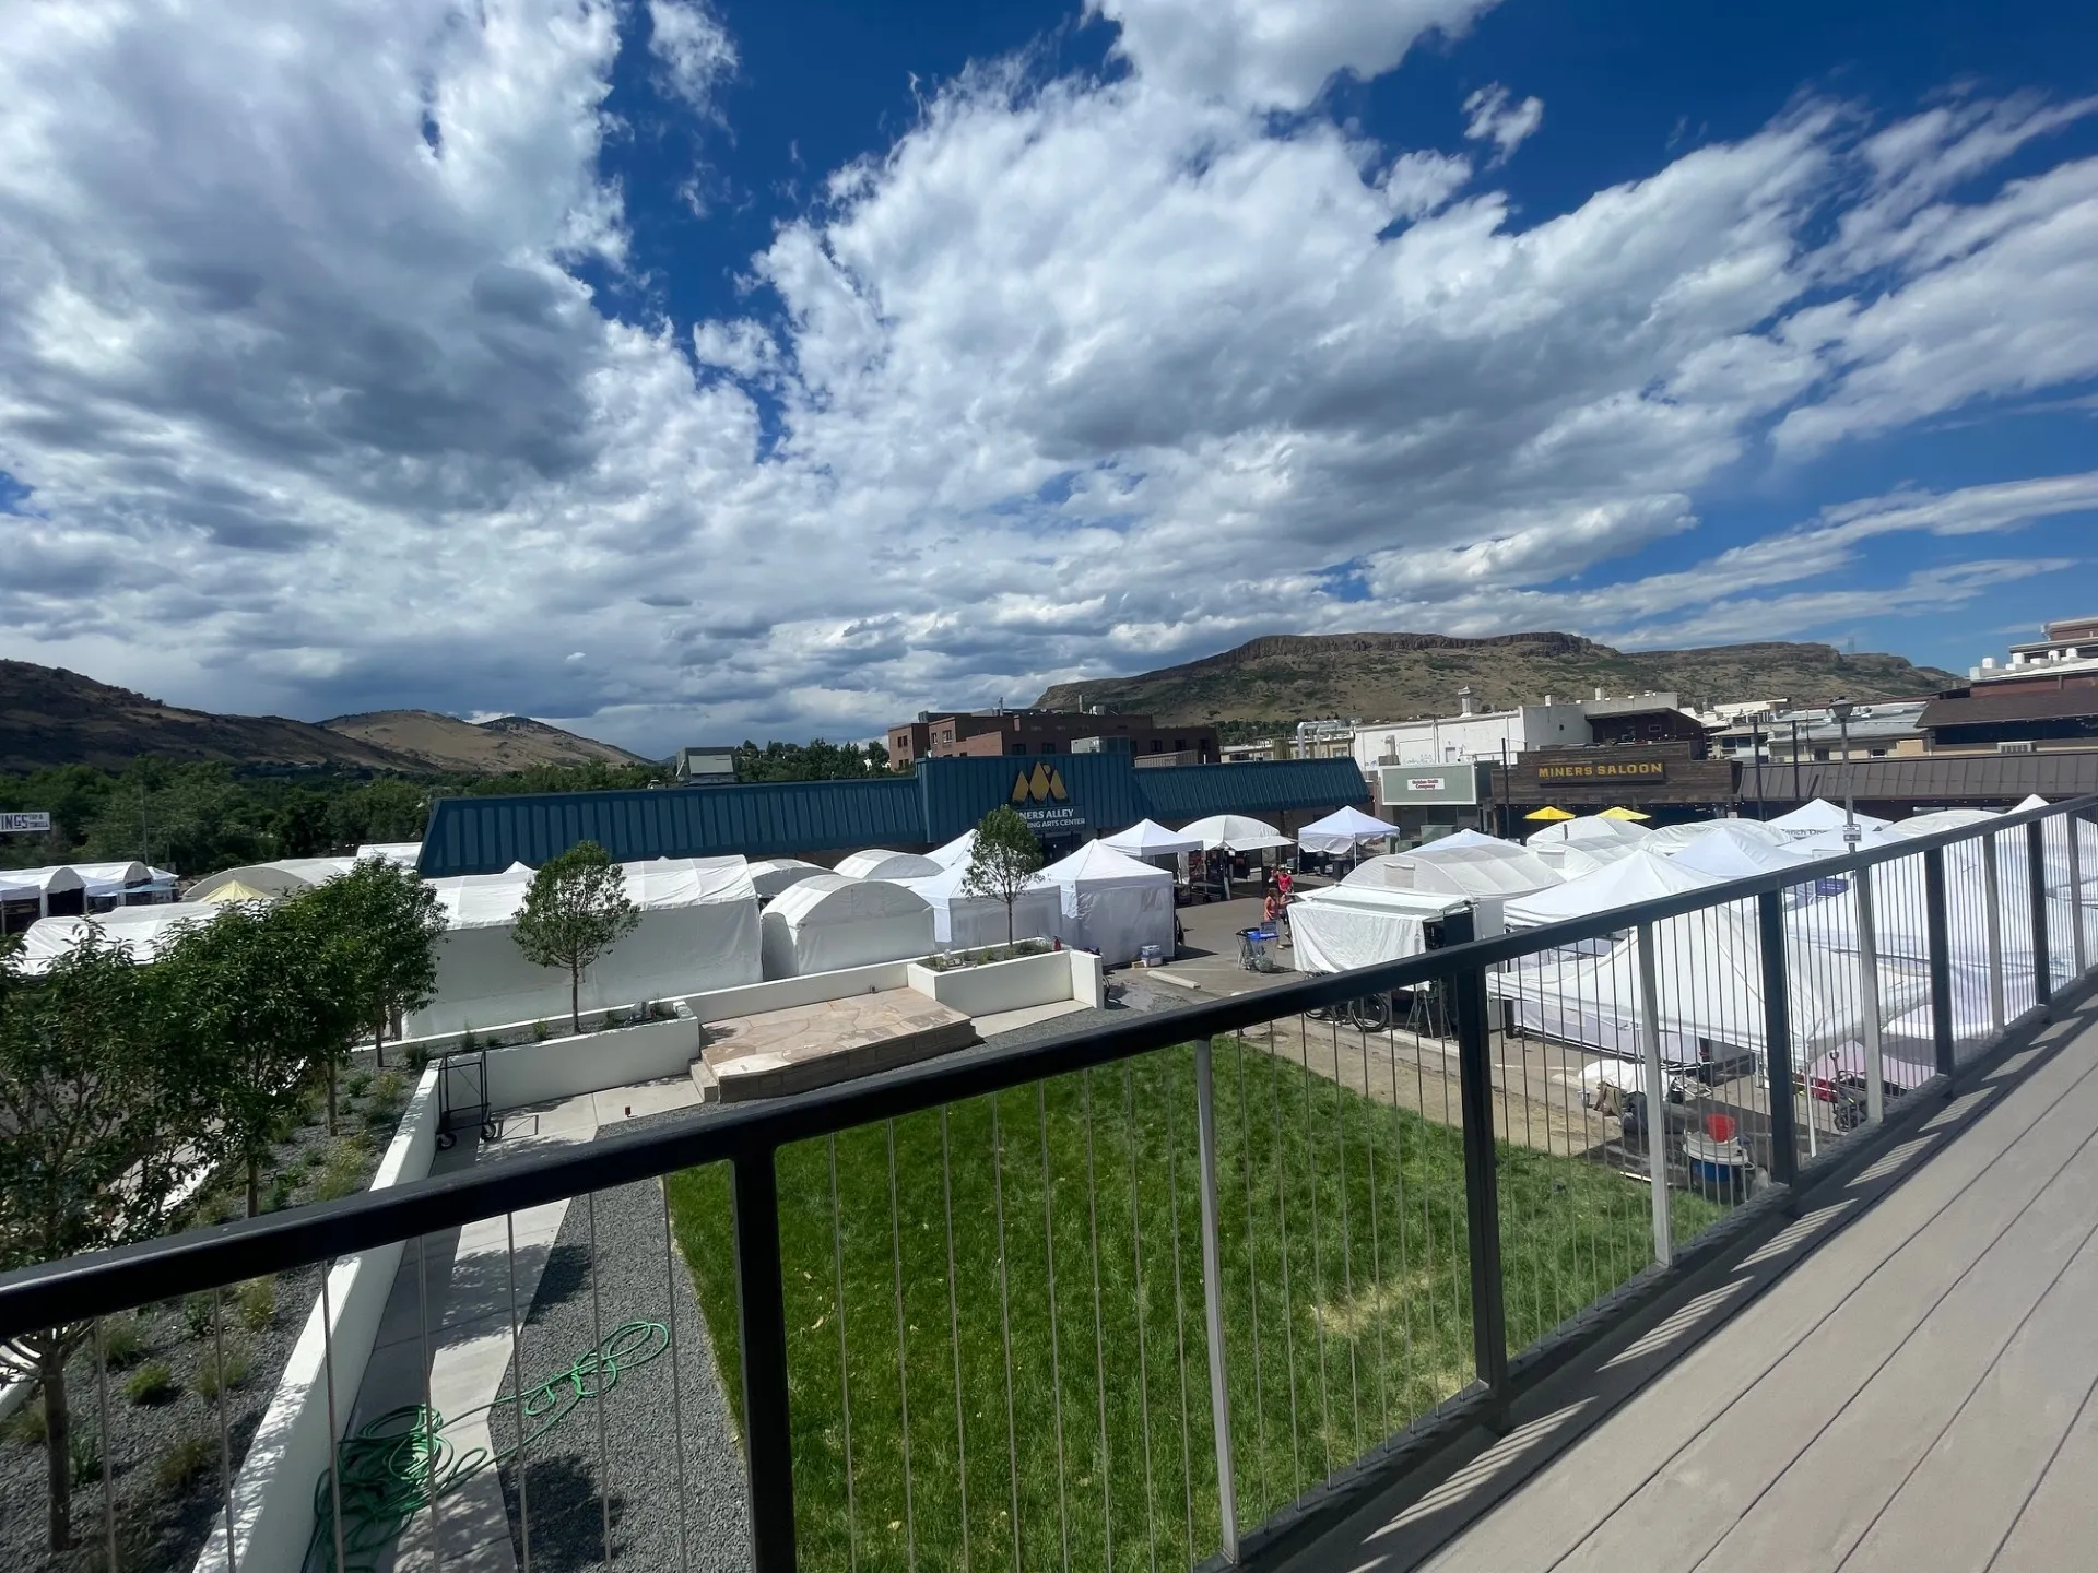
[[1271, 631], [1962, 669], [2098, 608], [2094, 96], [2022, 2], [15, 6], [0, 654], [646, 751]]

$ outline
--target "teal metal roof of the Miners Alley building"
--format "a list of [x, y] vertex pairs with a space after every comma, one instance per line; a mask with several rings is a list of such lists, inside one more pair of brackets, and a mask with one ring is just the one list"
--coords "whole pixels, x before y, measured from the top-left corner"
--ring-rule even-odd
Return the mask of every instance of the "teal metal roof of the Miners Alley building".
[[[1034, 772], [1055, 793], [1034, 797]], [[1080, 835], [1141, 818], [1181, 824], [1208, 814], [1282, 814], [1366, 803], [1353, 759], [1137, 770], [1127, 753], [925, 759], [915, 776], [667, 786], [634, 793], [441, 797], [422, 839], [422, 872], [537, 868], [577, 841], [619, 862], [646, 858], [780, 858], [799, 852], [938, 845], [1024, 793], [1030, 812], [1062, 810]]]

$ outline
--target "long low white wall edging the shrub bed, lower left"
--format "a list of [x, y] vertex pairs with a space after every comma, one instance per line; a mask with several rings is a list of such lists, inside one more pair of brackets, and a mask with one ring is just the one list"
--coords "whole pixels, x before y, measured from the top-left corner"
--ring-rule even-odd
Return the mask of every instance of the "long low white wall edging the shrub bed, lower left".
[[[371, 1189], [426, 1179], [434, 1154], [436, 1065], [430, 1065], [409, 1097], [386, 1156], [380, 1158]], [[313, 1487], [334, 1464], [334, 1439], [327, 1435], [329, 1357], [336, 1416], [348, 1420], [399, 1267], [399, 1242], [336, 1263], [327, 1275], [327, 1309], [334, 1321], [325, 1328], [321, 1300], [315, 1298], [306, 1328], [248, 1447], [248, 1460], [233, 1477], [239, 1567], [256, 1573], [292, 1573], [306, 1560], [315, 1525]], [[227, 1521], [220, 1510], [195, 1569], [216, 1573], [222, 1567], [227, 1567]]]

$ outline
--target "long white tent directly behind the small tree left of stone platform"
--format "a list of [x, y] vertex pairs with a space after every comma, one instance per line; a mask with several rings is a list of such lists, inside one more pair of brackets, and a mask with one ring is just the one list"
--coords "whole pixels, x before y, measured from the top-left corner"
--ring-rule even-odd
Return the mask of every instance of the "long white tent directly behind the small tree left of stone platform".
[[[581, 1007], [602, 1011], [738, 988], [762, 977], [757, 891], [743, 858], [619, 864], [642, 921], [583, 973]], [[409, 1036], [569, 1019], [569, 975], [524, 961], [512, 938], [533, 870], [432, 879], [449, 927], [436, 942], [436, 996]]]

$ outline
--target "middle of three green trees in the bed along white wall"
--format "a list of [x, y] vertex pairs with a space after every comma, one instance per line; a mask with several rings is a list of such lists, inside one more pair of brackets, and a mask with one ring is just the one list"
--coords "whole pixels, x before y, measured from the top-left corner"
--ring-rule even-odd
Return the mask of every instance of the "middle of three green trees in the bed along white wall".
[[210, 923], [180, 929], [155, 969], [166, 973], [170, 1007], [206, 1070], [212, 1151], [243, 1170], [254, 1216], [279, 1126], [359, 1028], [344, 946], [325, 912], [300, 900], [235, 902]]

